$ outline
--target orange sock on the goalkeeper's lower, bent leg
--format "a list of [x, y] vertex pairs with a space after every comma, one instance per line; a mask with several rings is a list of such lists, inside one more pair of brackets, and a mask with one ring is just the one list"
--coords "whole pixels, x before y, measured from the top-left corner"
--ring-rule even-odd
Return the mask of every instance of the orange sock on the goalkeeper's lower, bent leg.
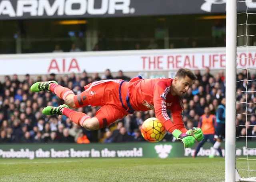
[[84, 124], [85, 120], [90, 118], [90, 116], [88, 116], [87, 114], [84, 114], [82, 112], [76, 112], [69, 108], [63, 109], [63, 115], [67, 116], [68, 118], [70, 118], [70, 120], [72, 122], [74, 122], [78, 126], [82, 126], [82, 127], [84, 127], [83, 124]]

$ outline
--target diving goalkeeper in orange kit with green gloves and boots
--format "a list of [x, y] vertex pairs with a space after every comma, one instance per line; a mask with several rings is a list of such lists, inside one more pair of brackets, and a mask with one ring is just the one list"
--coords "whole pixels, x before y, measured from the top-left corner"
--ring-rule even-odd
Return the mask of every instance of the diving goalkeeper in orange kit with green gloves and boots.
[[[135, 111], [154, 110], [166, 130], [184, 147], [190, 147], [196, 140], [203, 140], [202, 130], [193, 128], [187, 130], [182, 120], [182, 96], [196, 80], [190, 69], [180, 68], [174, 79], [133, 78], [130, 82], [124, 80], [101, 80], [85, 86], [85, 91], [75, 95], [72, 90], [58, 85], [55, 81], [37, 82], [31, 86], [32, 92], [51, 91], [65, 100], [67, 105], [58, 107], [47, 106], [42, 111], [45, 115], [65, 115], [72, 122], [88, 130], [98, 130], [109, 126], [116, 120]], [[96, 116], [90, 118], [85, 113], [76, 112], [72, 108], [84, 106], [102, 106]], [[167, 109], [172, 112], [170, 120]]]

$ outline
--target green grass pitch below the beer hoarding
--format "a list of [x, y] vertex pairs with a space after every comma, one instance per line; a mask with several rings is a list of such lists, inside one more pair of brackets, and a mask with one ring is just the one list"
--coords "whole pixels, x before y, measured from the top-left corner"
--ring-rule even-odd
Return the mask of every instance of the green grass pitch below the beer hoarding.
[[224, 169], [224, 158], [1, 159], [0, 182], [220, 182]]

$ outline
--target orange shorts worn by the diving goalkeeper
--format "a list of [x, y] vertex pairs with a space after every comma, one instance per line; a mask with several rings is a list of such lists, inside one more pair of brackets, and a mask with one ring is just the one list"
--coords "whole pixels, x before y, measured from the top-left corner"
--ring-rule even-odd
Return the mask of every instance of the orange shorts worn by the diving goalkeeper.
[[74, 102], [77, 108], [88, 105], [102, 106], [95, 117], [100, 122], [100, 128], [105, 128], [116, 120], [132, 114], [126, 109], [127, 88], [128, 83], [123, 80], [93, 82], [84, 87], [84, 92], [74, 96]]

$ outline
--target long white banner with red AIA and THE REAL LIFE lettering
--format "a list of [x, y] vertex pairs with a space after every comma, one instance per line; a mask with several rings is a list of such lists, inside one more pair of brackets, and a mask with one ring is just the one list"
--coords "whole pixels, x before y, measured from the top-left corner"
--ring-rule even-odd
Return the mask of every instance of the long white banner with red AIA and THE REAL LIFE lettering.
[[[0, 75], [11, 74], [65, 74], [175, 71], [178, 68], [193, 70], [225, 69], [225, 48], [193, 48], [165, 50], [134, 50], [105, 52], [72, 52], [48, 54], [12, 54], [0, 56]], [[256, 49], [239, 48], [237, 68], [256, 68]]]

